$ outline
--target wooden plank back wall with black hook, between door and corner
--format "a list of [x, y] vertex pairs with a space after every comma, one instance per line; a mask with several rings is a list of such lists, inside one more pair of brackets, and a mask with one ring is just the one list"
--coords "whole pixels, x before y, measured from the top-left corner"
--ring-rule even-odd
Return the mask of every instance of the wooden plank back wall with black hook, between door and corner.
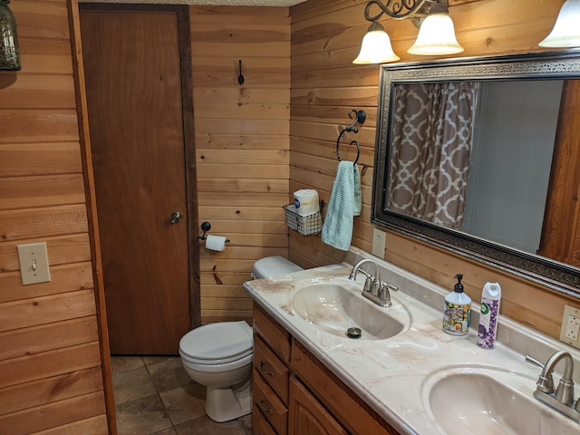
[[223, 252], [200, 250], [201, 321], [250, 321], [241, 285], [254, 262], [287, 256], [289, 12], [191, 6], [190, 16], [199, 226], [230, 240]]

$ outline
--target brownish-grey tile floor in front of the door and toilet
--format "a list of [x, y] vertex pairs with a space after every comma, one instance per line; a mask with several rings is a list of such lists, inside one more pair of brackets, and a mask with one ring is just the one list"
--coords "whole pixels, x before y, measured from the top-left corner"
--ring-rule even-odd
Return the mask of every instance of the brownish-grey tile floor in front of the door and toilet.
[[179, 356], [112, 356], [119, 435], [250, 435], [252, 416], [210, 420], [205, 387], [193, 382]]

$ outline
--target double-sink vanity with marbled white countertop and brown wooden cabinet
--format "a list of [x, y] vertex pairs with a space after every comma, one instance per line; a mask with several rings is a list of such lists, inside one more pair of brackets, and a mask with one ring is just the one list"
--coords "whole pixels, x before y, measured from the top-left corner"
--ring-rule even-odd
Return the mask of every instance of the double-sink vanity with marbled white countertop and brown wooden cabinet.
[[[382, 281], [399, 287], [391, 307], [362, 297], [362, 278], [348, 279], [362, 258], [372, 258]], [[542, 369], [526, 362], [528, 354], [546, 362], [566, 351], [580, 382], [580, 352], [502, 316], [496, 347], [480, 349], [478, 304], [468, 335], [444, 333], [449, 289], [359, 249], [341, 265], [245, 288], [255, 301], [255, 434], [580, 431], [580, 422], [534, 398]], [[360, 338], [347, 336], [352, 326], [362, 330]], [[563, 370], [556, 364], [556, 383]]]

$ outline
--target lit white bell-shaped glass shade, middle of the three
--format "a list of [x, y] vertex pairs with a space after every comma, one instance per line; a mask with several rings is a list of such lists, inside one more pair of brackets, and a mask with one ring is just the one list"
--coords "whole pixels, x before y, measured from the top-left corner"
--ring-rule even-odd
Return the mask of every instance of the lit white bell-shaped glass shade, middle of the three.
[[410, 54], [438, 56], [461, 53], [463, 47], [455, 38], [455, 28], [449, 14], [430, 14], [420, 24], [417, 41], [407, 50]]

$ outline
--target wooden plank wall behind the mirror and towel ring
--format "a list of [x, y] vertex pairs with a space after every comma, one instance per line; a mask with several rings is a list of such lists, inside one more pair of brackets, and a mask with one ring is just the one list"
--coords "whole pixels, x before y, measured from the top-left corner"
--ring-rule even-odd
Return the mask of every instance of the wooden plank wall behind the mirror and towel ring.
[[[563, 0], [456, 0], [449, 2], [464, 56], [539, 52], [537, 43], [549, 33]], [[309, 0], [291, 7], [292, 91], [290, 114], [290, 192], [317, 189], [328, 201], [336, 172], [335, 143], [340, 129], [350, 121], [350, 109], [363, 109], [367, 121], [356, 139], [362, 153], [362, 215], [355, 218], [353, 246], [371, 251], [372, 166], [377, 114], [379, 68], [356, 66], [364, 20], [364, 0]], [[425, 61], [406, 50], [417, 29], [409, 20], [382, 19], [401, 62]], [[351, 135], [343, 140], [348, 144]], [[344, 145], [344, 160], [353, 150]], [[496, 270], [450, 255], [392, 232], [387, 234], [385, 258], [444, 287], [463, 273], [467, 293], [480, 300], [487, 281], [498, 280], [503, 289], [501, 311], [519, 322], [551, 336], [559, 336], [565, 297]], [[291, 234], [289, 257], [304, 267], [343, 259], [343, 252], [324, 245], [320, 237]], [[577, 302], [575, 303], [577, 305]]]

